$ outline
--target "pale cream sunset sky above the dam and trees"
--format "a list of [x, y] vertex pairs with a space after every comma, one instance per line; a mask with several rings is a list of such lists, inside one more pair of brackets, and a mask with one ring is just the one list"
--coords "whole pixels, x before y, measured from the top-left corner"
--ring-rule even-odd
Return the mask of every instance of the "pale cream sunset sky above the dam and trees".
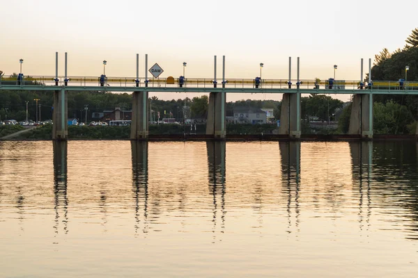
[[[158, 63], [161, 77], [183, 74], [212, 78], [217, 55], [218, 79], [222, 56], [226, 78], [254, 78], [263, 63], [263, 79], [287, 79], [288, 57], [300, 57], [300, 78], [359, 80], [360, 59], [374, 58], [383, 48], [405, 45], [418, 22], [408, 10], [418, 1], [130, 1], [130, 0], [0, 0], [0, 70], [53, 76], [55, 52], [63, 75], [68, 52], [69, 76], [100, 76], [107, 60], [107, 76], [139, 75]], [[148, 74], [149, 75], [149, 74]], [[175, 93], [157, 95], [179, 98]], [[193, 97], [193, 94], [187, 97]], [[279, 95], [228, 95], [281, 99]], [[348, 97], [346, 97], [348, 98]]]

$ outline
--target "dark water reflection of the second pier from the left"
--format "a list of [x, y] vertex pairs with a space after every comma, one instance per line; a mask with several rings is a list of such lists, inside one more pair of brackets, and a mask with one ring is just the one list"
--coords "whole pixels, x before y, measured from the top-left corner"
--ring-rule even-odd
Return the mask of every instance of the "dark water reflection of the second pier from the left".
[[144, 228], [148, 232], [148, 142], [131, 141], [132, 149], [132, 191], [135, 199], [135, 234], [139, 229], [140, 200], [144, 199]]

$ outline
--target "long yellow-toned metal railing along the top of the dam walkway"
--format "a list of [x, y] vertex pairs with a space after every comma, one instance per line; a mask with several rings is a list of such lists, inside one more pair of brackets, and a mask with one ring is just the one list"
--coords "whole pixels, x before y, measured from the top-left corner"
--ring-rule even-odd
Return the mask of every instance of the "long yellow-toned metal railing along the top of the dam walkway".
[[[22, 80], [17, 80], [17, 76], [2, 76], [0, 78], [0, 86], [17, 85], [24, 87], [26, 85], [40, 86], [81, 86], [81, 87], [150, 87], [150, 88], [214, 88], [213, 79], [204, 78], [185, 78], [182, 82], [178, 78], [158, 78], [148, 79], [144, 77], [136, 81], [134, 77], [111, 77], [108, 76], [104, 80], [100, 80], [100, 76], [69, 76], [65, 81], [63, 76], [55, 79], [55, 76], [28, 76]], [[226, 79], [226, 83], [222, 84], [222, 79], [217, 80], [216, 88], [235, 88], [235, 89], [327, 89], [332, 90], [418, 90], [417, 81], [373, 81], [371, 85], [364, 83], [360, 86], [360, 81], [330, 81], [316, 82], [311, 79], [302, 79], [300, 83], [292, 80], [288, 83], [287, 79], [261, 79], [257, 82], [255, 79]]]

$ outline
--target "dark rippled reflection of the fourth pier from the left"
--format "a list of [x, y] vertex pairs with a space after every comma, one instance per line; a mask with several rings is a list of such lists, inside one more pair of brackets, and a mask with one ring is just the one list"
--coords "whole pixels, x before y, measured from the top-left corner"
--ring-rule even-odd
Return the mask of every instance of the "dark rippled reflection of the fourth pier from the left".
[[288, 229], [289, 233], [292, 226], [291, 222], [291, 207], [294, 197], [295, 202], [295, 227], [299, 227], [300, 216], [300, 142], [279, 142], [279, 149], [281, 155], [281, 171], [282, 183], [285, 193], [288, 196], [287, 212], [288, 212]]

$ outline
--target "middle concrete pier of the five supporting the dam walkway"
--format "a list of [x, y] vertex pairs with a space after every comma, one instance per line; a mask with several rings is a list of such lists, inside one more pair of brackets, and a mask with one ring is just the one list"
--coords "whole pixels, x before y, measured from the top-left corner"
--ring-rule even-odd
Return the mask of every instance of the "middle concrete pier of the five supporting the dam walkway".
[[210, 93], [206, 134], [213, 135], [215, 139], [224, 139], [226, 136], [225, 106], [225, 92]]

